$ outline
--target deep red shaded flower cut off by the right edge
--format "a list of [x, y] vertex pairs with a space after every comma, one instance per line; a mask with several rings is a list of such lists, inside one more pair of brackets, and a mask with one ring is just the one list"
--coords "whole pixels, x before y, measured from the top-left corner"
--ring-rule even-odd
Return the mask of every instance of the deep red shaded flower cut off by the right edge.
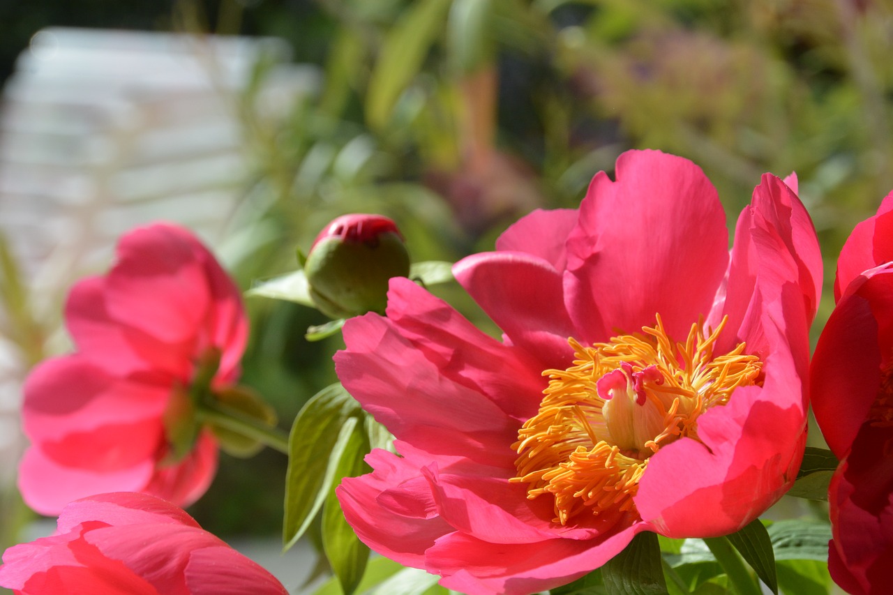
[[831, 479], [831, 577], [889, 592], [893, 565], [893, 193], [840, 253], [837, 306], [815, 348], [815, 419], [840, 465]]

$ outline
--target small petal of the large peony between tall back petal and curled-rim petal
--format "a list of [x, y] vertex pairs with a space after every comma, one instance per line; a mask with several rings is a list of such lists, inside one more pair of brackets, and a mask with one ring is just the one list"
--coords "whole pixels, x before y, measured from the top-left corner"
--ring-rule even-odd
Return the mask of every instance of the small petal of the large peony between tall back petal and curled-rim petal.
[[567, 268], [564, 242], [577, 224], [577, 209], [537, 209], [514, 222], [497, 238], [497, 250], [524, 252], [552, 264], [556, 271]]

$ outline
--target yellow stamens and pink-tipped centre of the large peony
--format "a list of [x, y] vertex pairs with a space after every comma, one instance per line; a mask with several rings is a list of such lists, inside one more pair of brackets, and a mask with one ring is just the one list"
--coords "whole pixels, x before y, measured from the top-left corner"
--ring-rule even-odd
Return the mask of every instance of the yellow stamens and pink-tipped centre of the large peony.
[[697, 438], [697, 417], [729, 402], [739, 386], [761, 383], [757, 356], [744, 343], [714, 356], [726, 323], [705, 333], [692, 324], [673, 343], [660, 316], [655, 328], [620, 335], [575, 352], [567, 370], [547, 370], [539, 412], [518, 432], [513, 449], [528, 498], [555, 498], [555, 522], [584, 511], [635, 512], [633, 496], [648, 458], [682, 437]]

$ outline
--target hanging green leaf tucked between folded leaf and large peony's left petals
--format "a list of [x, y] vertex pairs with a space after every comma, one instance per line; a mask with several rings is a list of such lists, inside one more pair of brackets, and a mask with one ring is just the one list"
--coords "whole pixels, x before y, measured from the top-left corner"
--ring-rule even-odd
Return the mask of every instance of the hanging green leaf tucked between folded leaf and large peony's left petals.
[[347, 524], [335, 488], [345, 477], [356, 477], [371, 471], [371, 467], [363, 461], [363, 457], [369, 452], [369, 439], [357, 418], [351, 417], [341, 426], [333, 459], [335, 451], [339, 451], [339, 456], [337, 461], [332, 461], [335, 463], [334, 473], [329, 494], [322, 507], [322, 549], [341, 583], [341, 590], [345, 595], [351, 595], [363, 578], [369, 548]]

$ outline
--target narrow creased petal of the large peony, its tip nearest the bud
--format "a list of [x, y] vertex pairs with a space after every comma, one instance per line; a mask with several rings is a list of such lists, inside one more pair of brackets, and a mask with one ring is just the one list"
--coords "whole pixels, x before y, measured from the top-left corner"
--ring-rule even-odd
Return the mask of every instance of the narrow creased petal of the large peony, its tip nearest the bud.
[[534, 358], [490, 338], [413, 281], [397, 277], [390, 287], [388, 320], [439, 373], [488, 395], [516, 419], [536, 415], [547, 381]]

